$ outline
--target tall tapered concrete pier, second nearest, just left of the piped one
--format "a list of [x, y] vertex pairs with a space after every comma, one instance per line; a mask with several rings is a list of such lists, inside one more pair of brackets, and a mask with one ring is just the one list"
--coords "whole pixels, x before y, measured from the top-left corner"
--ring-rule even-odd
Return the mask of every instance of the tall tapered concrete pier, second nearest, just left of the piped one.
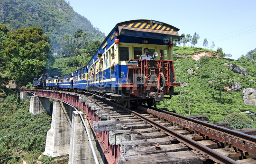
[[51, 129], [47, 131], [46, 148], [43, 155], [62, 156], [69, 154], [72, 107], [54, 100]]

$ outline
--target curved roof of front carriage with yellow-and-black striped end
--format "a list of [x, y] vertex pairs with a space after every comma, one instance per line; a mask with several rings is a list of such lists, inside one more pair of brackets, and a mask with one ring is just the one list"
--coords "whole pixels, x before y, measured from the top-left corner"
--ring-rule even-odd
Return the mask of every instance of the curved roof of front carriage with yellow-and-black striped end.
[[149, 19], [136, 19], [136, 20], [120, 22], [117, 25], [115, 25], [115, 27], [104, 39], [104, 41], [102, 41], [100, 47], [93, 54], [89, 63], [93, 59], [94, 55], [98, 53], [101, 47], [104, 46], [105, 42], [110, 38], [110, 35], [112, 35], [114, 32], [119, 32], [120, 35], [123, 34], [123, 35], [129, 35], [129, 36], [135, 36], [138, 33], [141, 33], [141, 35], [143, 35], [142, 33], [148, 32], [148, 33], [155, 33], [158, 36], [161, 35], [162, 37], [167, 35], [174, 36], [175, 39], [180, 40], [182, 36], [178, 35], [179, 30], [180, 29], [172, 25], [155, 21], [155, 20], [149, 20]]

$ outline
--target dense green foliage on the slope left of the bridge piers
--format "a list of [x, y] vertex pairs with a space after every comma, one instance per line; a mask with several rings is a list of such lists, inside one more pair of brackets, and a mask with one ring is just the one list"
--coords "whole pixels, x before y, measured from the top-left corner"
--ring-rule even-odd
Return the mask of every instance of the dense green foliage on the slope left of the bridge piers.
[[5, 99], [0, 99], [0, 160], [19, 150], [26, 152], [26, 155], [15, 155], [5, 160], [4, 164], [22, 163], [23, 159], [35, 163], [45, 150], [51, 116], [46, 112], [30, 114], [29, 104], [29, 100], [20, 100], [18, 94], [17, 97], [9, 94]]

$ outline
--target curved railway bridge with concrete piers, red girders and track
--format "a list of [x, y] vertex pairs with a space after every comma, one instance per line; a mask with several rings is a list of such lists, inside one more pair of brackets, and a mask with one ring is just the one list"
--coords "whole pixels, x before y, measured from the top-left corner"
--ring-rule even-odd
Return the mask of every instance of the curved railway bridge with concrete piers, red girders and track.
[[43, 154], [69, 154], [69, 164], [256, 164], [255, 129], [232, 131], [146, 106], [130, 110], [96, 90], [19, 91], [20, 98], [31, 95], [30, 113], [52, 115]]

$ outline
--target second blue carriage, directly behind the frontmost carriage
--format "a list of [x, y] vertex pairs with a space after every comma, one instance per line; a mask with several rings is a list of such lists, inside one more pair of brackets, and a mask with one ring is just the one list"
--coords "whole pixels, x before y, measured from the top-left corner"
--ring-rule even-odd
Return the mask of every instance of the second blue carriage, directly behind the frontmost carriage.
[[73, 73], [73, 89], [85, 90], [88, 80], [88, 68], [84, 66]]

